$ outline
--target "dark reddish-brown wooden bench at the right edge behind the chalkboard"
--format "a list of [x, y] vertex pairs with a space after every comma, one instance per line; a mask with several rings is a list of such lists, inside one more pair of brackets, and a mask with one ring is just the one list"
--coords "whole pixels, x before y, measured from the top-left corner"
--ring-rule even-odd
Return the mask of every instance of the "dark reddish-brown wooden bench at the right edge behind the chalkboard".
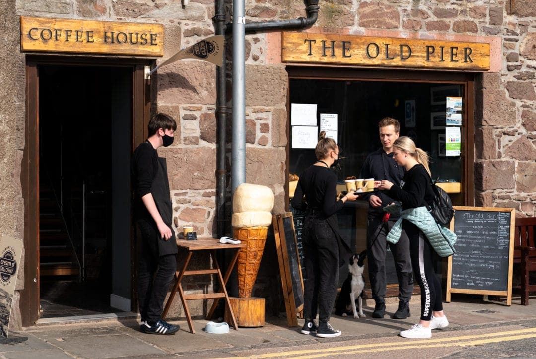
[[521, 295], [521, 305], [528, 305], [528, 293], [536, 291], [536, 283], [528, 283], [529, 272], [536, 271], [536, 217], [516, 218], [513, 263], [519, 265], [520, 285], [512, 293]]

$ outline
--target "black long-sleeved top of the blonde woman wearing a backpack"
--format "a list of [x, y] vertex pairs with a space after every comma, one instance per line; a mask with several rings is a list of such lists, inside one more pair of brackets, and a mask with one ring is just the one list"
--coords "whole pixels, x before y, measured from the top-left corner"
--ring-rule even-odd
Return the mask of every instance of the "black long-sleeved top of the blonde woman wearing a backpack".
[[402, 209], [422, 207], [434, 202], [430, 175], [422, 164], [415, 164], [406, 172], [400, 185], [393, 184], [388, 195], [402, 204]]

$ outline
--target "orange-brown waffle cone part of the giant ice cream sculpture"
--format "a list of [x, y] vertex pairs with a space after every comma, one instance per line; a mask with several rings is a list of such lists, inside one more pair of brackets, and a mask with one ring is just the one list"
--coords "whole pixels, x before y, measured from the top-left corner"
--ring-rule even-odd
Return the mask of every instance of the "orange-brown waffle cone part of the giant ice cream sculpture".
[[240, 249], [238, 257], [238, 295], [251, 297], [251, 290], [257, 279], [260, 259], [262, 259], [268, 227], [233, 228], [233, 237], [246, 246]]

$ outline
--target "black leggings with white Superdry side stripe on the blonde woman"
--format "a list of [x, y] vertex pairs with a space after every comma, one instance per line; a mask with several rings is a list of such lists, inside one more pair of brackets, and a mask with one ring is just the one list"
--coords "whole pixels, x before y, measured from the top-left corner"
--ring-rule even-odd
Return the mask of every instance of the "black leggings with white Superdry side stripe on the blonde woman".
[[437, 253], [422, 230], [413, 223], [404, 220], [403, 228], [410, 237], [413, 277], [421, 287], [421, 320], [430, 320], [432, 311], [443, 310], [441, 282], [434, 271]]

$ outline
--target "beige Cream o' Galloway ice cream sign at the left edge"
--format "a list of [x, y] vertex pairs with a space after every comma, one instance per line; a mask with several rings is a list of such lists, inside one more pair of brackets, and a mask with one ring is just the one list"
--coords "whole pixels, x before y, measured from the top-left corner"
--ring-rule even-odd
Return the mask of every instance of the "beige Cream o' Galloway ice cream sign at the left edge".
[[0, 239], [0, 335], [8, 338], [13, 294], [17, 284], [23, 242], [4, 235]]

